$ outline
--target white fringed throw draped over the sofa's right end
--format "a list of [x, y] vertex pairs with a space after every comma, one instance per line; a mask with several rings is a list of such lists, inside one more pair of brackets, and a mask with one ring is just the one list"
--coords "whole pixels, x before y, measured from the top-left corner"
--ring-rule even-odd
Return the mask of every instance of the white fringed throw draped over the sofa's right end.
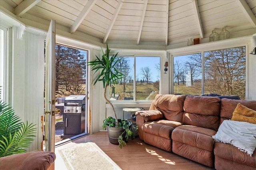
[[234, 145], [252, 156], [256, 148], [256, 125], [248, 122], [224, 120], [212, 138], [218, 142]]

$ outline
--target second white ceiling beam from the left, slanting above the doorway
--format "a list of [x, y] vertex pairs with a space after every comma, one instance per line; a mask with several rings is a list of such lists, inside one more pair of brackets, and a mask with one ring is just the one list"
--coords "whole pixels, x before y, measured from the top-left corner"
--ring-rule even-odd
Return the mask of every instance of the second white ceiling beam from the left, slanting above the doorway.
[[82, 23], [84, 18], [87, 16], [87, 14], [92, 9], [92, 6], [96, 3], [96, 0], [88, 0], [85, 4], [84, 8], [76, 18], [76, 21], [74, 21], [73, 25], [70, 28], [70, 33], [74, 33], [76, 29], [79, 27], [79, 25]]

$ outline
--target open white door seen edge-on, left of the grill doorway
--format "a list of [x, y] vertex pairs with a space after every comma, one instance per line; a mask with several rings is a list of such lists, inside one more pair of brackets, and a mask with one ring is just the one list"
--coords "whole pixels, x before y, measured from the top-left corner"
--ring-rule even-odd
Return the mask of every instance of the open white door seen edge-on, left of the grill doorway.
[[51, 20], [46, 36], [45, 51], [45, 150], [55, 149], [55, 20]]

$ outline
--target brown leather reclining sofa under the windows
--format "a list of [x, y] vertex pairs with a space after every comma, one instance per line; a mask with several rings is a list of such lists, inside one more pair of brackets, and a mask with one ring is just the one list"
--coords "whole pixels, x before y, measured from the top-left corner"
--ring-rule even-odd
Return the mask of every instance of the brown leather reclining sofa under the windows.
[[238, 103], [256, 110], [256, 100], [157, 95], [150, 110], [136, 112], [138, 134], [145, 143], [217, 170], [255, 170], [256, 151], [251, 157], [212, 139], [220, 124], [232, 118]]

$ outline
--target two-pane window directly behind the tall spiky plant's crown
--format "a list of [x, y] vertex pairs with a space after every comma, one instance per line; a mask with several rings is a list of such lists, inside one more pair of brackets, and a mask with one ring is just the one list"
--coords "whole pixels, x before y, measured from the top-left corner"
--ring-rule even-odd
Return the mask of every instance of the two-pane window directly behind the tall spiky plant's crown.
[[160, 57], [120, 57], [122, 60], [116, 68], [123, 70], [124, 78], [110, 90], [110, 100], [117, 102], [154, 100], [160, 91]]

